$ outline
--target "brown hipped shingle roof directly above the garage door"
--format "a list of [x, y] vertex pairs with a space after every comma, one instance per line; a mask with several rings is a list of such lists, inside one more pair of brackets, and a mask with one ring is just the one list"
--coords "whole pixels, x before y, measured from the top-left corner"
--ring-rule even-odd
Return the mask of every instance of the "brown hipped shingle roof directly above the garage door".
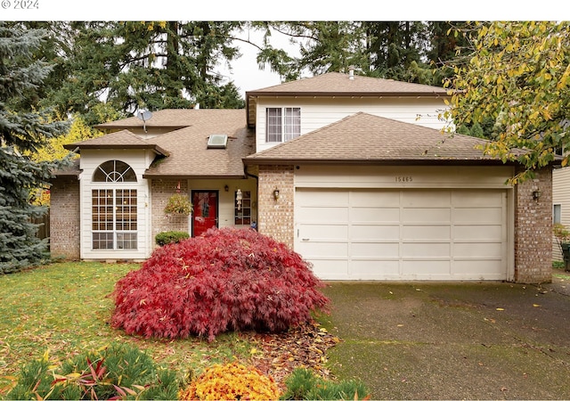
[[248, 156], [246, 164], [289, 162], [398, 163], [437, 160], [499, 161], [485, 156], [486, 141], [359, 112], [327, 127]]

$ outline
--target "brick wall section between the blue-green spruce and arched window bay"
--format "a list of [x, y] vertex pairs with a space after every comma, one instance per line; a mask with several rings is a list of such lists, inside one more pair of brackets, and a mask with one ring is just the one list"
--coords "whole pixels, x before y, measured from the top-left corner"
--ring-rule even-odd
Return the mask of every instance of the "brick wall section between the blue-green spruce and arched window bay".
[[80, 258], [79, 181], [61, 176], [50, 188], [50, 252], [52, 258]]

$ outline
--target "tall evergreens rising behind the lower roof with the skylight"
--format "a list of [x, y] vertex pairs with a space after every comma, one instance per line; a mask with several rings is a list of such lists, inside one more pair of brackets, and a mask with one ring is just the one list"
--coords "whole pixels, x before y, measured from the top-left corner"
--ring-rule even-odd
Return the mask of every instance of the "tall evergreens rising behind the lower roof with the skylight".
[[[80, 113], [88, 125], [104, 122], [94, 107], [107, 102], [125, 115], [148, 110], [243, 107], [219, 62], [238, 56], [232, 33], [241, 22], [93, 21], [61, 25], [58, 48], [65, 77], [46, 102], [61, 114]], [[58, 72], [60, 70], [57, 70]], [[226, 87], [227, 86], [227, 87]], [[233, 86], [235, 87], [235, 86]]]

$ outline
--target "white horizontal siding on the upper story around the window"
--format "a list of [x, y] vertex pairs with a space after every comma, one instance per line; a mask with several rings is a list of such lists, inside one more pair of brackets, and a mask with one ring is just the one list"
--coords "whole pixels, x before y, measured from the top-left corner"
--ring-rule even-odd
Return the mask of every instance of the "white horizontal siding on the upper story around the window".
[[328, 126], [357, 112], [366, 112], [387, 119], [395, 119], [423, 127], [441, 129], [445, 105], [437, 99], [393, 98], [297, 98], [260, 97], [256, 109], [256, 151], [264, 151], [278, 143], [265, 142], [265, 108], [300, 107], [301, 135]]

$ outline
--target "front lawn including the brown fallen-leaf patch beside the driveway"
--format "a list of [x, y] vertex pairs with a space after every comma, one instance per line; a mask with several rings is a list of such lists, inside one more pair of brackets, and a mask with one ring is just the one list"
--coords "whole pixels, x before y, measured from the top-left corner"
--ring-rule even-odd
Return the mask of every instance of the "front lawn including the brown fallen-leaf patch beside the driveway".
[[318, 323], [287, 333], [221, 334], [213, 342], [145, 340], [110, 327], [115, 283], [138, 264], [60, 263], [0, 275], [0, 398], [22, 364], [49, 353], [53, 363], [113, 342], [145, 350], [182, 377], [212, 364], [244, 361], [282, 381], [297, 366], [326, 376], [327, 348], [338, 339]]

